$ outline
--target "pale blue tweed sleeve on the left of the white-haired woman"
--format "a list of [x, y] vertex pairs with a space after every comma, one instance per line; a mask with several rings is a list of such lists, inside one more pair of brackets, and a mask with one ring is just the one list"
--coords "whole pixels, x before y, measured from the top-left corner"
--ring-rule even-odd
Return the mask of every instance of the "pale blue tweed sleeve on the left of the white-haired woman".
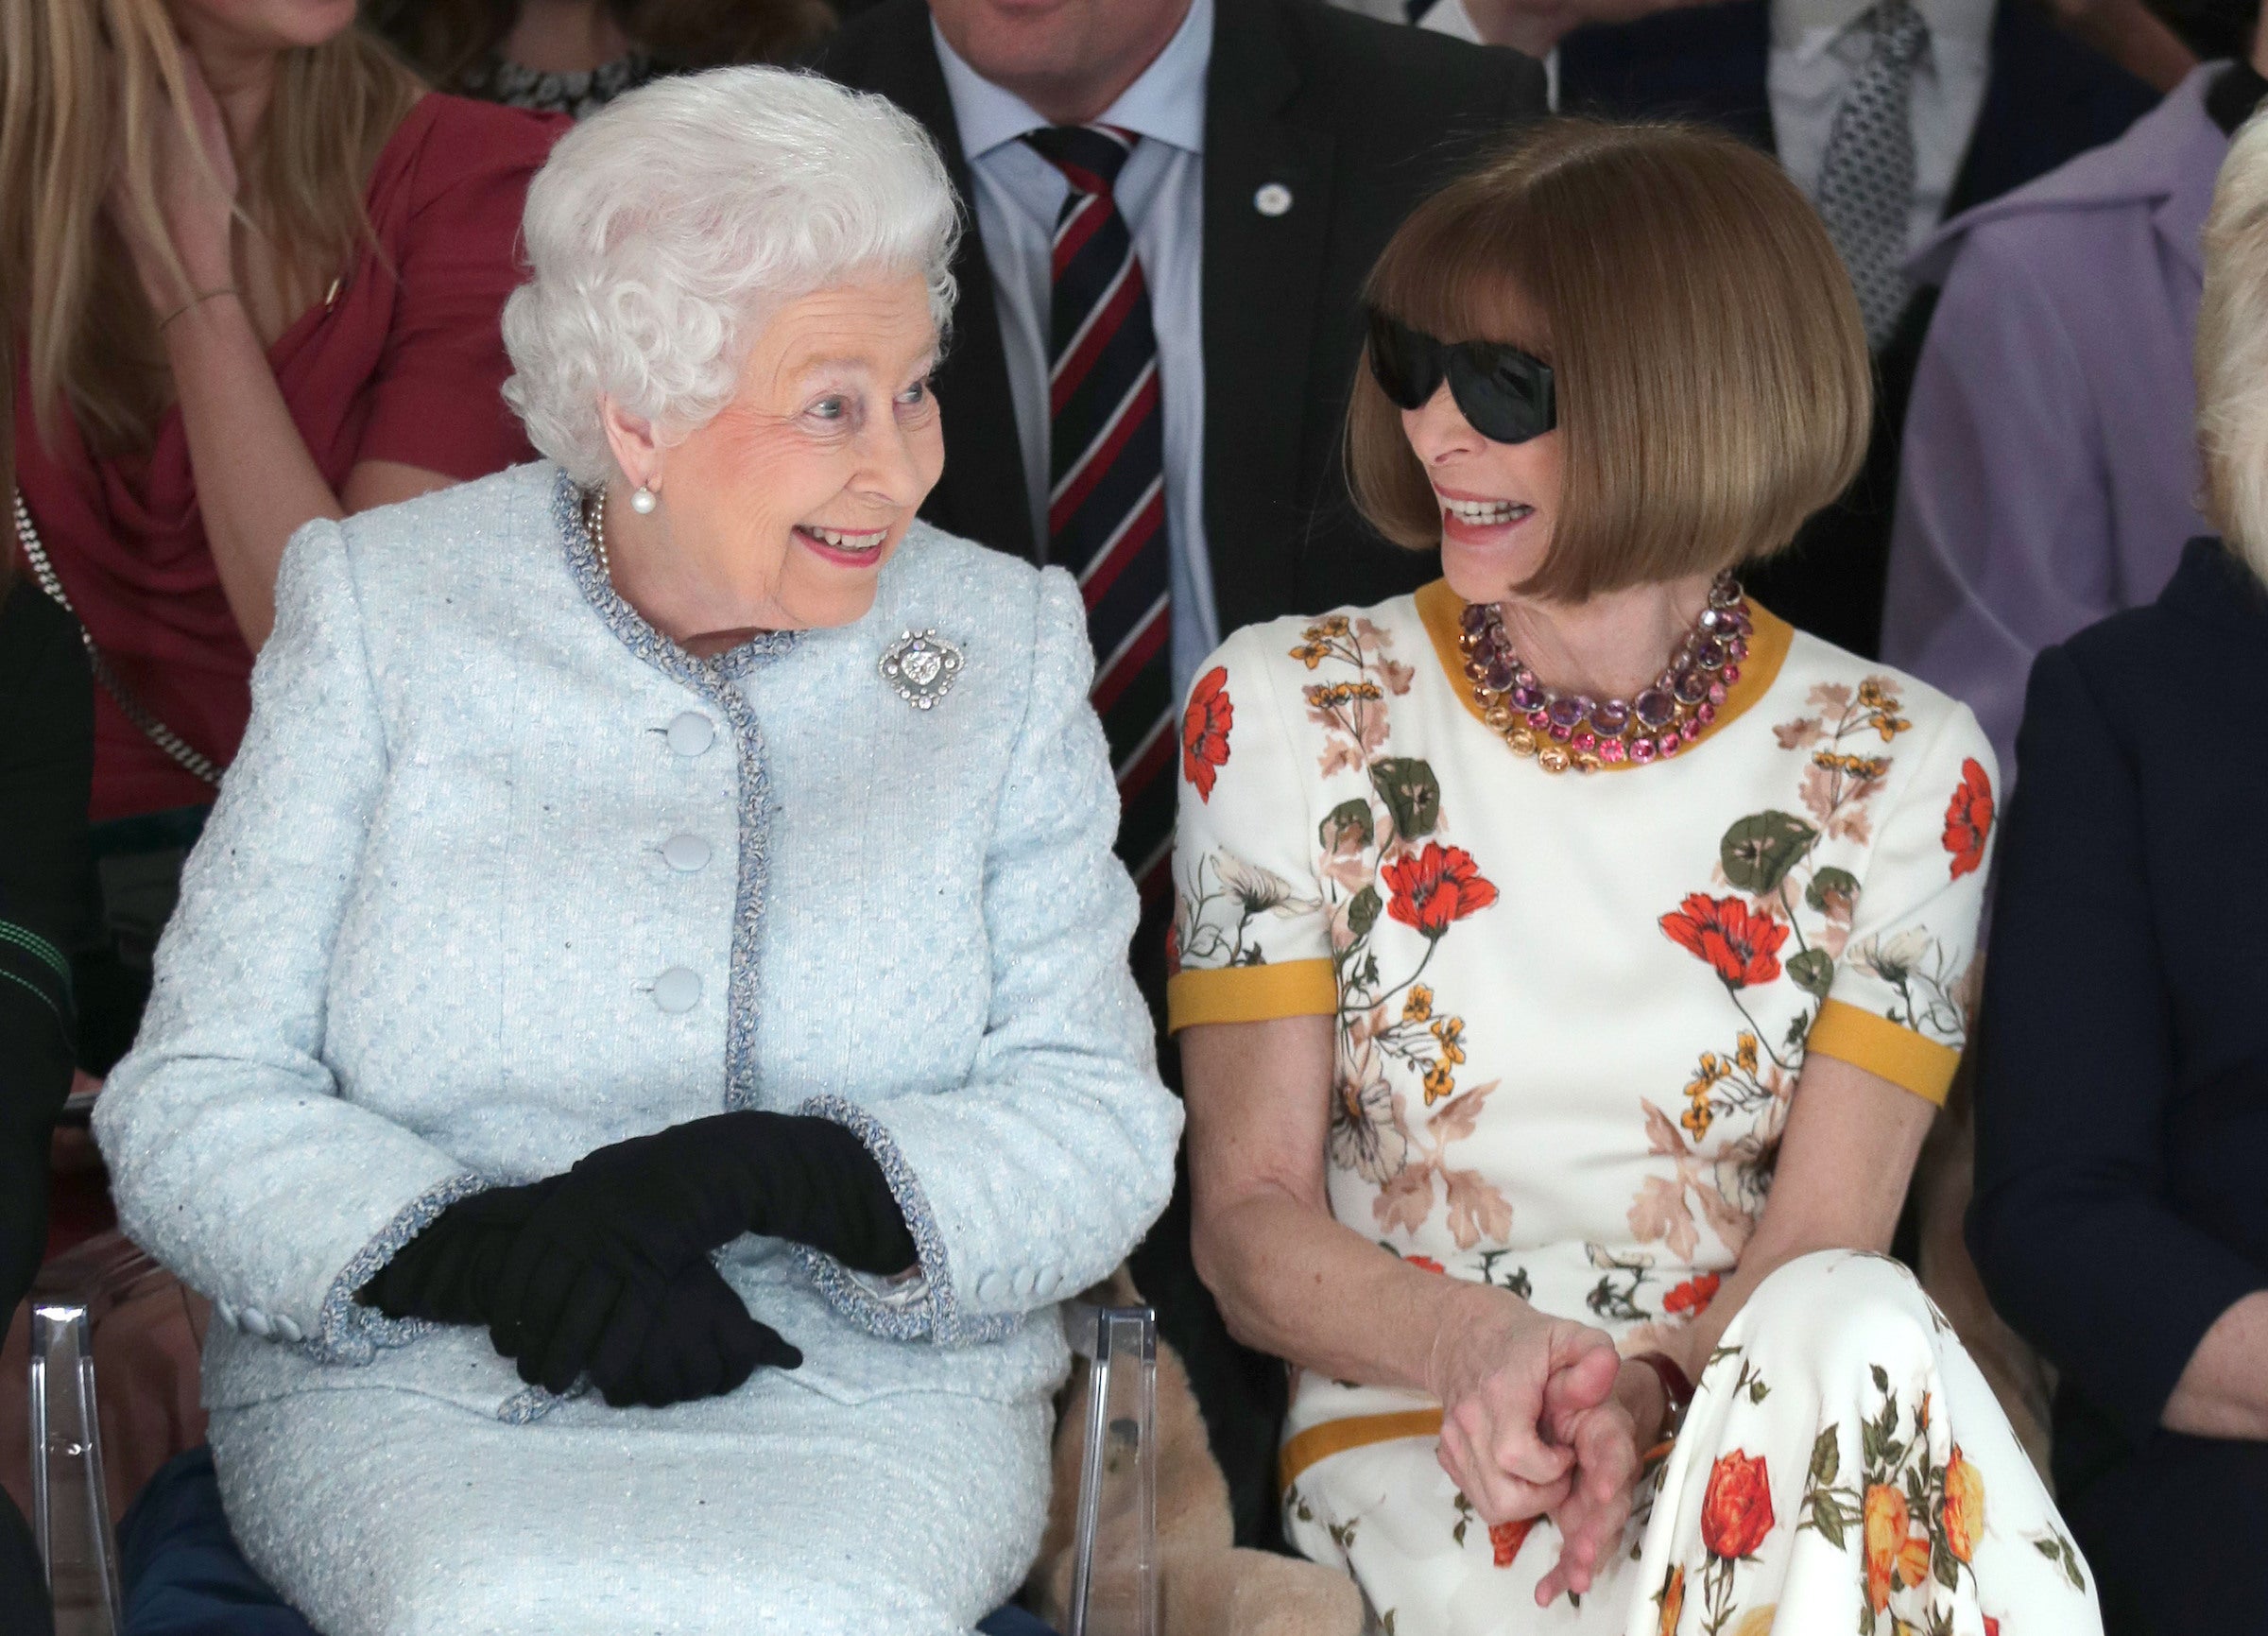
[[95, 1135], [143, 1248], [249, 1332], [363, 1361], [406, 1332], [354, 1287], [481, 1182], [345, 1100], [322, 1060], [331, 955], [386, 778], [336, 522], [284, 558], [252, 697]]

